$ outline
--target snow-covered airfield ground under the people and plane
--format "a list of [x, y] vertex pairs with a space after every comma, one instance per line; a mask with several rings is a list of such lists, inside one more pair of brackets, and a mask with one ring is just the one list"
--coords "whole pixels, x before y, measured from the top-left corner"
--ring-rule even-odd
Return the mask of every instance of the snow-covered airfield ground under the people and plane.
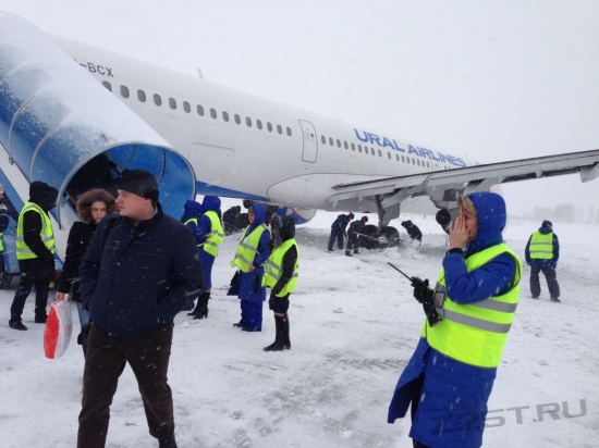
[[[224, 201], [223, 210], [234, 203]], [[387, 262], [433, 279], [447, 250], [444, 234], [431, 216], [402, 215], [425, 235], [418, 251], [406, 245], [346, 258], [326, 251], [334, 215], [319, 211], [297, 229], [301, 276], [291, 297], [290, 351], [262, 351], [274, 338], [267, 304], [262, 333], [232, 326], [240, 308], [225, 293], [236, 238], [227, 238], [213, 270], [209, 319], [191, 323], [181, 313], [175, 320], [169, 379], [181, 448], [412, 447], [409, 421], [387, 424], [387, 410], [424, 315], [408, 282]], [[523, 258], [539, 224], [512, 220], [505, 232]], [[403, 231], [399, 221], [392, 225]], [[529, 299], [525, 266], [489, 402], [497, 411], [489, 424], [496, 427], [485, 431], [485, 447], [599, 446], [599, 226], [555, 223], [554, 229], [562, 245], [562, 303], [549, 301], [542, 276], [541, 300]], [[29, 331], [9, 328], [15, 283], [0, 291], [0, 445], [74, 447], [81, 347], [73, 339], [62, 359], [44, 357], [44, 325], [33, 323], [33, 295], [24, 313]], [[75, 307], [73, 316], [76, 321]], [[157, 443], [127, 368], [112, 405], [108, 447], [148, 446]]]

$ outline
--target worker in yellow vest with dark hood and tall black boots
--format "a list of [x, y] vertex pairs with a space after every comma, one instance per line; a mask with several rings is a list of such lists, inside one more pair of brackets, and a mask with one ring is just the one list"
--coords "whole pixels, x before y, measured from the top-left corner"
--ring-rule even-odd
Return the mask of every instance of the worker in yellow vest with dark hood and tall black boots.
[[265, 351], [291, 349], [289, 336], [289, 296], [295, 289], [300, 274], [300, 248], [295, 241], [295, 221], [291, 216], [273, 215], [270, 221], [272, 229], [272, 253], [265, 263], [265, 285], [272, 288], [268, 307], [274, 313], [274, 343], [265, 347]]

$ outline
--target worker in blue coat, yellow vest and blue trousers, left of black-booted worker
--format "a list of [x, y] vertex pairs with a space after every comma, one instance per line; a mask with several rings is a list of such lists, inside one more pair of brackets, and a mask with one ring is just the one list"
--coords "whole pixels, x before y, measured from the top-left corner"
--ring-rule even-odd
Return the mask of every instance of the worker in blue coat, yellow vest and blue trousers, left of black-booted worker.
[[270, 256], [270, 231], [265, 224], [266, 208], [253, 202], [247, 209], [249, 226], [242, 233], [231, 266], [237, 271], [231, 281], [229, 296], [241, 300], [242, 318], [233, 326], [244, 332], [262, 331], [262, 302], [266, 288], [262, 285], [264, 264]]

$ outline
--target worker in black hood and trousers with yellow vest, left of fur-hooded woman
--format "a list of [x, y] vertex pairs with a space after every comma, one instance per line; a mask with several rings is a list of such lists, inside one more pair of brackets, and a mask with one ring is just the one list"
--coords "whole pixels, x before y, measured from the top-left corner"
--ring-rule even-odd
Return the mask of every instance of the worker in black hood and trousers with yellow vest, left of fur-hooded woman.
[[48, 212], [56, 207], [58, 190], [44, 182], [29, 185], [29, 200], [21, 210], [16, 226], [16, 259], [21, 282], [11, 306], [9, 325], [26, 331], [21, 314], [25, 300], [35, 286], [35, 323], [45, 324], [48, 319], [48, 293], [54, 275], [54, 233]]

